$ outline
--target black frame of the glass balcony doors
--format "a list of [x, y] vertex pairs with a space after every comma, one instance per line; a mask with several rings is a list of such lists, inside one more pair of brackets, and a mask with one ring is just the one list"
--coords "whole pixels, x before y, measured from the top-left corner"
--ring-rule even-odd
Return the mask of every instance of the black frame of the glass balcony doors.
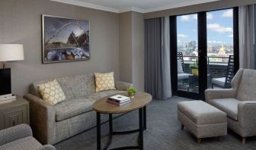
[[[223, 8], [213, 11], [225, 10]], [[236, 73], [239, 68], [239, 31], [238, 31], [238, 7], [233, 9], [233, 46], [234, 46], [234, 68]], [[204, 91], [207, 89], [207, 20], [206, 13], [210, 11], [200, 11], [191, 14], [197, 14], [197, 32], [198, 32], [198, 67], [199, 67], [199, 93], [178, 90], [178, 72], [177, 72], [177, 17], [170, 16], [170, 57], [171, 57], [171, 89], [173, 95], [205, 100]], [[185, 15], [185, 14], [181, 14]], [[203, 50], [204, 49], [204, 50]]]

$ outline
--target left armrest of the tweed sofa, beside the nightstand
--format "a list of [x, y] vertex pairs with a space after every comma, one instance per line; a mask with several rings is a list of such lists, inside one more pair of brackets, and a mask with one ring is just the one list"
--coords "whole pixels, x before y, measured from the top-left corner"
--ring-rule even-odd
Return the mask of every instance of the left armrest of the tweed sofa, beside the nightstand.
[[24, 98], [30, 102], [30, 127], [34, 136], [43, 144], [53, 144], [56, 136], [56, 111], [42, 98], [27, 94]]

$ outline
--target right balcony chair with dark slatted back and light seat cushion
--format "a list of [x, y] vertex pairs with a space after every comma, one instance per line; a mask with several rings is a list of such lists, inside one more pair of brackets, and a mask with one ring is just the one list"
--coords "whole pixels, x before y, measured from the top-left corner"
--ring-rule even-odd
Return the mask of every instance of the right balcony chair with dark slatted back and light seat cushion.
[[234, 77], [234, 55], [229, 55], [229, 63], [226, 70], [226, 77], [219, 77], [212, 79], [212, 88], [214, 86], [221, 87], [223, 89], [231, 88], [231, 80]]

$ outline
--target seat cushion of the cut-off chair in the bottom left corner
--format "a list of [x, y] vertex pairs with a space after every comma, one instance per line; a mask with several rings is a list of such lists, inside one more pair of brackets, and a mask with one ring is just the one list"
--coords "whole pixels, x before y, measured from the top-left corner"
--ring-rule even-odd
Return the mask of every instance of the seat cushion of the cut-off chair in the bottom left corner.
[[5, 149], [5, 150], [14, 150], [14, 149], [19, 149], [19, 150], [34, 150], [37, 148], [40, 148], [42, 145], [40, 142], [38, 142], [36, 139], [34, 139], [32, 136], [28, 136], [23, 139], [18, 139], [13, 142], [8, 142], [5, 145], [1, 145], [0, 149]]

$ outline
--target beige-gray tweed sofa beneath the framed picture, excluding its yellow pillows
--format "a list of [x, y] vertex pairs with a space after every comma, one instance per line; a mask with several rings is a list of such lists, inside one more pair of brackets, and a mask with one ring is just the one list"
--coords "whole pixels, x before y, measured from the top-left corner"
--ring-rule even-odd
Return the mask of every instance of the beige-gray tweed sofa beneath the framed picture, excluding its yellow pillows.
[[[54, 106], [43, 101], [37, 84], [30, 85], [30, 94], [24, 98], [30, 102], [30, 126], [34, 136], [43, 144], [55, 144], [96, 126], [96, 113], [92, 105], [98, 99], [126, 91], [130, 83], [115, 82], [117, 90], [95, 93], [94, 73], [56, 78], [66, 95], [66, 100]], [[102, 115], [101, 121], [108, 120]]]

